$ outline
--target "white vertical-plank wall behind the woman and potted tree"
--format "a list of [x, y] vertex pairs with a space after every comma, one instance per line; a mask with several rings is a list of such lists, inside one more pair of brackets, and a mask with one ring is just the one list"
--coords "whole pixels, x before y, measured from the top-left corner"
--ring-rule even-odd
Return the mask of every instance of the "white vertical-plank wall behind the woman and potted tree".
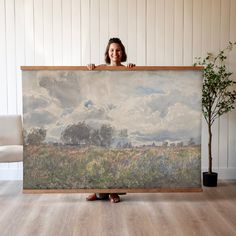
[[[120, 37], [137, 65], [192, 65], [236, 41], [235, 0], [0, 0], [0, 114], [22, 114], [22, 65], [103, 63]], [[236, 76], [236, 50], [229, 65]], [[207, 132], [202, 125], [202, 167]], [[214, 125], [214, 169], [236, 179], [236, 111]], [[0, 178], [22, 178], [1, 164]]]

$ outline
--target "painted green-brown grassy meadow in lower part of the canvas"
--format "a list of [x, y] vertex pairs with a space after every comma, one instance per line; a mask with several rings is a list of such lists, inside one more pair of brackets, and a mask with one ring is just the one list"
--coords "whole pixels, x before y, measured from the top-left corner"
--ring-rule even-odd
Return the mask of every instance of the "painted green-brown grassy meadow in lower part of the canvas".
[[198, 188], [200, 146], [25, 145], [24, 189]]

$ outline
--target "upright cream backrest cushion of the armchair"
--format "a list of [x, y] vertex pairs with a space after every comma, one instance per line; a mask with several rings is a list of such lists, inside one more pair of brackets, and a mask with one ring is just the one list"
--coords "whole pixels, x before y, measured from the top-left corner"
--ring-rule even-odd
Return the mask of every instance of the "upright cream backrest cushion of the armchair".
[[21, 145], [22, 136], [20, 115], [0, 115], [0, 145]]

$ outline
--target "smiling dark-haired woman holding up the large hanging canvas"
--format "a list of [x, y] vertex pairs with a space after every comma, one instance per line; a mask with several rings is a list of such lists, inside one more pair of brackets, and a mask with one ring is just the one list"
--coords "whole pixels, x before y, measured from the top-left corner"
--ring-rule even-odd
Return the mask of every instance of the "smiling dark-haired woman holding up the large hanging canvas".
[[[125, 52], [125, 47], [122, 44], [119, 38], [111, 38], [107, 44], [105, 51], [105, 62], [106, 66], [124, 66], [121, 62], [125, 62], [127, 60], [127, 55]], [[127, 67], [135, 66], [132, 63], [129, 63]], [[89, 64], [89, 70], [93, 70], [95, 68], [94, 64]], [[109, 199], [112, 203], [120, 202], [120, 197], [117, 193], [93, 193], [89, 195], [86, 200], [87, 201], [95, 201], [95, 200], [104, 200]]]

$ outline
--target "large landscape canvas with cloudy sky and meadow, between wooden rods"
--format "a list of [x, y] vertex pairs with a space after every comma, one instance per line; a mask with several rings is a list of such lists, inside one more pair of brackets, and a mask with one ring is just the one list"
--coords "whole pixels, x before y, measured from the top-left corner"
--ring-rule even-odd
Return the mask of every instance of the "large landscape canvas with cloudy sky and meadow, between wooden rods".
[[24, 189], [201, 187], [197, 69], [23, 69]]

